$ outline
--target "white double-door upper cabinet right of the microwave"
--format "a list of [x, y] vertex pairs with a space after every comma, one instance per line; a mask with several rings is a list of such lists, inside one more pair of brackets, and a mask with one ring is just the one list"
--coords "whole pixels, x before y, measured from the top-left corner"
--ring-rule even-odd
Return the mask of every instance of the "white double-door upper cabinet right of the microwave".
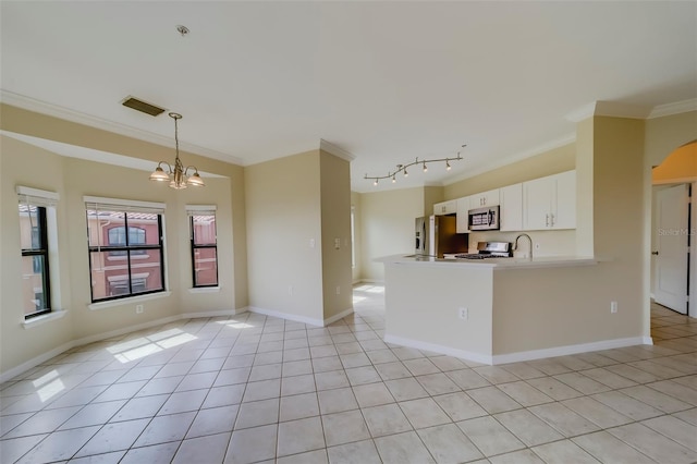
[[576, 171], [523, 183], [523, 230], [576, 228]]

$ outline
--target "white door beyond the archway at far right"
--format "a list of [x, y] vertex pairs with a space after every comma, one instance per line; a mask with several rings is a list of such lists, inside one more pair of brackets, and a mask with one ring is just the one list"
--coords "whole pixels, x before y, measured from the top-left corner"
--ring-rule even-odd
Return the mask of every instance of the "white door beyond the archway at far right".
[[687, 314], [688, 208], [687, 184], [657, 193], [653, 297], [656, 303], [682, 314]]

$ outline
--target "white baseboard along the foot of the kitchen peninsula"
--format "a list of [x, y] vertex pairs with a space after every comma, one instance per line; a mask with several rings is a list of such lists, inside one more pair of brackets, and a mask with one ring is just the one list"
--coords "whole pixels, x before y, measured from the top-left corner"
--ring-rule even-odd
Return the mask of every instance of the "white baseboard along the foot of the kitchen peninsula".
[[445, 354], [449, 356], [460, 357], [475, 363], [497, 365], [518, 363], [522, 361], [541, 359], [546, 357], [566, 356], [570, 354], [588, 353], [592, 351], [612, 350], [635, 345], [652, 345], [653, 340], [650, 337], [632, 337], [627, 339], [603, 340], [600, 342], [580, 343], [576, 345], [554, 346], [542, 350], [531, 350], [509, 354], [487, 355], [481, 353], [473, 353], [464, 350], [456, 350], [450, 346], [426, 343], [418, 340], [403, 339], [391, 334], [384, 334], [384, 341], [402, 346], [408, 346], [417, 350], [431, 351], [433, 353]]

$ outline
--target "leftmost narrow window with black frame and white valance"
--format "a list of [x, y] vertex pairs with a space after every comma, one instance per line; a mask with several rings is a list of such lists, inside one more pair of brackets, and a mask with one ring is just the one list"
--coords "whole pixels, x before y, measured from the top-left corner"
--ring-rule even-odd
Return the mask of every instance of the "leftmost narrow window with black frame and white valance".
[[[57, 248], [56, 204], [58, 194], [17, 186], [20, 248], [22, 251], [22, 306], [29, 319], [51, 312], [51, 271], [49, 248]], [[52, 236], [49, 236], [49, 224]], [[51, 244], [49, 240], [53, 239]], [[58, 279], [57, 279], [58, 280]]]

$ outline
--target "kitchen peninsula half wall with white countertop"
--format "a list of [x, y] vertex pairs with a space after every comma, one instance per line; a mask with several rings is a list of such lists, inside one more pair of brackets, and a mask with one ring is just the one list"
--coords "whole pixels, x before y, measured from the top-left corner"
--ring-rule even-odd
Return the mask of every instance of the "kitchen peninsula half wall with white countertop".
[[[610, 269], [602, 269], [611, 261], [378, 260], [384, 264], [387, 342], [490, 365], [651, 343], [611, 312], [616, 296], [603, 282]], [[629, 310], [622, 302], [614, 307]]]

